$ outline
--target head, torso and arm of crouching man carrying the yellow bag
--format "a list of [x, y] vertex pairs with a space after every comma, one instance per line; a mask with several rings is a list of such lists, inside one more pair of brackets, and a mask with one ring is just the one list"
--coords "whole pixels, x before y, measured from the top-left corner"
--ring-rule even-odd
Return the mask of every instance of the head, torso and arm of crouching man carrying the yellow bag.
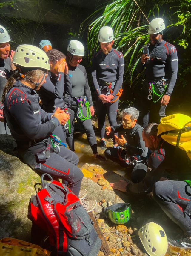
[[[134, 194], [150, 193], [155, 182], [161, 180], [164, 171], [168, 171], [168, 174], [171, 171], [172, 176], [176, 176], [180, 180], [191, 178], [191, 161], [186, 151], [176, 148], [160, 136], [158, 137], [157, 126], [156, 123], [150, 123], [142, 132], [145, 146], [153, 151], [148, 159], [148, 170], [144, 180], [137, 184], [130, 184], [124, 180], [110, 183], [114, 189]], [[163, 177], [162, 179], [164, 180]]]

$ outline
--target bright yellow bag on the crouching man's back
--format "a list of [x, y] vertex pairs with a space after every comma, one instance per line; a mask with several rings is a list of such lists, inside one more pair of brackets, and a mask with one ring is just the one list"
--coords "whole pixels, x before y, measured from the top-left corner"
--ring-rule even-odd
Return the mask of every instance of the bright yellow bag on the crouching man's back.
[[169, 115], [161, 119], [157, 127], [164, 141], [185, 150], [191, 160], [191, 117], [183, 114]]

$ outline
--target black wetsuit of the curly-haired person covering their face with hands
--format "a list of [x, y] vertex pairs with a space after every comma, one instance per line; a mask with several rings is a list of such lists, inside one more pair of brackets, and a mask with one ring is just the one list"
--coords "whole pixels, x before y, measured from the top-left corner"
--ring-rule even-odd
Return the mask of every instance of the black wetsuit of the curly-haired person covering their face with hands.
[[[56, 108], [64, 108], [64, 95], [65, 93], [71, 93], [72, 85], [68, 75], [64, 75], [64, 72], [58, 72], [58, 76], [48, 72], [46, 77], [46, 83], [44, 83], [38, 94], [42, 101], [42, 109], [45, 112], [53, 113]], [[59, 125], [53, 132], [57, 135], [62, 142], [66, 143], [66, 137], [64, 133], [64, 126]]]

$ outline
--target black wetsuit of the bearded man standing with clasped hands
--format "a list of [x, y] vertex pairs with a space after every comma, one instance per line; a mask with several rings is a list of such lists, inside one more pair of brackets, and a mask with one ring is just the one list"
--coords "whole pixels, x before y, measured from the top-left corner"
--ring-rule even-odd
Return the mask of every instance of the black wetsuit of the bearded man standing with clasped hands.
[[[97, 52], [92, 58], [91, 73], [93, 78], [93, 85], [96, 90], [96, 104], [98, 111], [98, 128], [100, 130], [100, 137], [105, 137], [105, 116], [107, 114], [110, 126], [117, 125], [116, 116], [118, 110], [119, 99], [114, 103], [103, 103], [98, 97], [100, 94], [107, 94], [107, 85], [105, 82], [112, 83], [112, 95], [114, 101], [117, 99], [119, 89], [123, 83], [124, 73], [124, 58], [123, 54], [115, 49], [105, 55], [102, 51]], [[116, 133], [116, 135], [118, 135]], [[115, 138], [113, 135], [113, 143]]]

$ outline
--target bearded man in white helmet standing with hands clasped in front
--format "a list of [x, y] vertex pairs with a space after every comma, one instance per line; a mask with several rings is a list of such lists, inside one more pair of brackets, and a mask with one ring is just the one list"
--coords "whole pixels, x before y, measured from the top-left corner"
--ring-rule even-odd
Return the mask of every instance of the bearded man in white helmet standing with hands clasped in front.
[[[100, 131], [101, 146], [105, 142], [105, 117], [108, 116], [110, 126], [117, 125], [116, 116], [119, 97], [122, 93], [124, 74], [123, 54], [113, 49], [114, 35], [112, 28], [105, 26], [99, 31], [98, 41], [100, 50], [93, 55], [91, 73], [96, 91], [98, 111], [98, 128]], [[113, 134], [113, 144], [117, 146]]]

